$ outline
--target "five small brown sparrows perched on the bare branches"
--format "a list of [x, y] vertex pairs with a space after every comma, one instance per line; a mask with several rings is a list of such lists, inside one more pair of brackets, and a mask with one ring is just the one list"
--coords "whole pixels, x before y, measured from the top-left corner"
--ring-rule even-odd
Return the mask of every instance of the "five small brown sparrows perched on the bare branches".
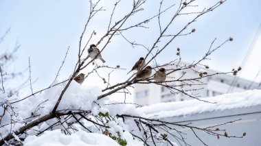
[[[102, 59], [100, 50], [93, 44], [90, 45], [90, 48], [88, 49], [88, 56], [91, 59], [99, 59], [103, 63], [105, 62], [105, 60]], [[150, 77], [150, 75], [152, 73], [152, 67], [146, 66], [144, 68], [145, 65], [146, 65], [146, 62], [145, 62], [144, 58], [139, 58], [139, 60], [134, 64], [131, 71], [137, 71], [135, 80], [145, 80], [146, 78]], [[128, 73], [131, 73], [131, 71], [129, 71]], [[84, 79], [85, 79], [84, 73], [80, 73], [80, 75], [77, 75], [76, 77], [73, 78], [73, 80], [75, 80], [79, 84], [82, 84], [82, 82], [84, 82]], [[166, 69], [161, 68], [158, 71], [156, 71], [156, 73], [153, 76], [153, 79], [156, 82], [164, 82], [166, 80]]]

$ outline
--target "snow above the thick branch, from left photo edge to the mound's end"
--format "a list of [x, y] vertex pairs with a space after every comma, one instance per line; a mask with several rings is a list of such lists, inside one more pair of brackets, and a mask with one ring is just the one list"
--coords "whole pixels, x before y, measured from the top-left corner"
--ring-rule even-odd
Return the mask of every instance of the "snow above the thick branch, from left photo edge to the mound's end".
[[[56, 84], [56, 83], [54, 83]], [[5, 134], [10, 131], [10, 119], [16, 121], [16, 124], [13, 125], [13, 129], [19, 130], [19, 127], [23, 126], [24, 123], [32, 120], [34, 115], [46, 115], [52, 112], [56, 101], [63, 88], [65, 88], [67, 82], [63, 84], [59, 84], [57, 86], [53, 86], [49, 88], [43, 93], [38, 93], [32, 97], [24, 99], [23, 101], [16, 102], [12, 104], [12, 109], [8, 109], [8, 112], [5, 112], [5, 115], [2, 118], [1, 124], [5, 125], [5, 127], [0, 128], [0, 133]], [[57, 110], [91, 110], [93, 108], [93, 101], [97, 100], [97, 95], [101, 94], [101, 90], [98, 87], [82, 87], [80, 84], [75, 82], [74, 80], [71, 82], [69, 88], [67, 88], [65, 94], [63, 95], [63, 99], [60, 101]], [[1, 103], [6, 100], [7, 96], [1, 95]], [[10, 102], [17, 101], [22, 99], [21, 97], [17, 97], [13, 95], [8, 98]], [[0, 112], [3, 113], [3, 108], [0, 108]], [[15, 113], [15, 117], [10, 117], [8, 113]], [[43, 125], [38, 127], [37, 130], [42, 130], [41, 128], [45, 128], [48, 126], [47, 123], [43, 123]]]

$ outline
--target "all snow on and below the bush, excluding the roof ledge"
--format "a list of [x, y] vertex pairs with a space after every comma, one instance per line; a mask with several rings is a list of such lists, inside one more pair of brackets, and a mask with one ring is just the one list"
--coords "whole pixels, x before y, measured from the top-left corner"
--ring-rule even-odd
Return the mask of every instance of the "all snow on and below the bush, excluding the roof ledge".
[[[56, 84], [56, 83], [54, 83]], [[1, 124], [4, 125], [0, 128], [1, 136], [6, 136], [9, 134], [10, 130], [16, 131], [19, 130], [20, 127], [25, 125], [25, 123], [30, 123], [38, 119], [39, 117], [43, 117], [50, 112], [52, 112], [60, 93], [62, 93], [65, 88], [67, 82], [59, 84], [58, 86], [53, 86], [47, 90], [44, 90], [42, 93], [38, 93], [34, 96], [31, 96], [22, 101], [16, 102], [12, 104], [14, 108], [8, 108], [8, 112], [5, 112]], [[122, 104], [117, 103], [117, 101], [112, 101], [109, 97], [104, 97], [97, 101], [98, 95], [101, 95], [101, 90], [98, 87], [89, 87], [89, 86], [80, 86], [80, 84], [76, 83], [74, 80], [67, 88], [65, 94], [63, 95], [63, 99], [60, 101], [57, 110], [84, 110], [90, 111], [91, 113], [87, 118], [93, 119], [94, 116], [100, 115], [100, 112], [103, 114], [109, 114], [109, 116], [114, 117], [117, 114], [131, 114], [140, 116], [141, 113], [136, 109], [136, 105], [133, 104]], [[22, 97], [12, 96], [10, 98], [7, 95], [0, 95], [1, 104], [9, 100], [10, 102], [18, 101], [19, 99], [23, 99]], [[0, 107], [0, 112], [3, 114], [3, 108]], [[9, 113], [15, 113], [16, 116], [10, 116]], [[75, 115], [77, 119], [81, 117], [79, 115]], [[10, 124], [11, 119], [15, 121], [14, 124]], [[93, 119], [95, 121], [95, 119]], [[60, 117], [60, 122], [66, 121], [65, 117]], [[31, 130], [27, 130], [27, 137], [20, 136], [21, 138], [25, 138], [25, 145], [117, 145], [117, 141], [113, 140], [113, 138], [102, 134], [102, 131], [98, 130], [97, 127], [86, 120], [81, 120], [81, 123], [84, 127], [87, 127], [92, 132], [87, 132], [84, 127], [75, 122], [75, 119], [71, 118], [67, 120], [63, 126], [56, 126], [53, 128], [54, 131], [46, 131], [41, 136], [32, 136], [37, 134], [39, 131], [45, 131], [49, 128], [49, 126], [53, 125], [57, 122], [57, 119], [49, 119], [43, 123], [38, 124], [37, 126], [32, 127]], [[74, 130], [68, 128], [67, 123], [72, 122], [71, 125], [73, 128], [78, 130], [79, 132], [74, 133]], [[99, 123], [99, 122], [98, 122]], [[102, 124], [102, 123], [100, 123]], [[126, 140], [128, 145], [143, 145], [138, 140], [133, 140], [133, 136], [131, 135], [131, 131], [136, 130], [136, 125], [132, 119], [126, 119], [123, 121], [122, 119], [114, 119], [113, 121], [109, 121], [108, 123], [111, 136], [118, 137], [120, 134], [123, 141]], [[64, 135], [65, 129], [69, 130], [71, 136]], [[63, 131], [63, 132], [61, 132]], [[28, 136], [31, 135], [31, 136]], [[14, 135], [15, 136], [15, 135]], [[48, 139], [48, 141], [46, 141]], [[19, 137], [16, 136], [16, 140], [19, 140]], [[113, 142], [111, 142], [113, 141]]]

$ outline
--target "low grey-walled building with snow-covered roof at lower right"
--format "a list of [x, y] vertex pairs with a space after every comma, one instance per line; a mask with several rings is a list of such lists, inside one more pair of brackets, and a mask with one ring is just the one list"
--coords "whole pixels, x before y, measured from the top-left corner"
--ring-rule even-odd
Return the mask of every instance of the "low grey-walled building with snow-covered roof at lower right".
[[[209, 104], [196, 99], [169, 103], [154, 104], [141, 107], [140, 110], [147, 117], [154, 117], [170, 123], [188, 124], [197, 127], [209, 127], [218, 125], [220, 130], [227, 130], [229, 136], [242, 136], [243, 138], [225, 138], [209, 135], [206, 132], [194, 130], [199, 138], [207, 145], [236, 145], [258, 146], [261, 143], [261, 90], [248, 90], [243, 93], [232, 93], [205, 98], [217, 104]], [[219, 125], [228, 123], [225, 125]], [[183, 132], [185, 141], [190, 145], [203, 145], [189, 128], [174, 127]], [[216, 127], [213, 127], [216, 129]], [[162, 131], [168, 134], [166, 131]], [[179, 136], [175, 130], [168, 132]], [[220, 132], [223, 134], [223, 132]], [[168, 134], [170, 135], [170, 134]], [[169, 136], [170, 141], [179, 145], [177, 139]], [[184, 143], [181, 143], [185, 145]]]

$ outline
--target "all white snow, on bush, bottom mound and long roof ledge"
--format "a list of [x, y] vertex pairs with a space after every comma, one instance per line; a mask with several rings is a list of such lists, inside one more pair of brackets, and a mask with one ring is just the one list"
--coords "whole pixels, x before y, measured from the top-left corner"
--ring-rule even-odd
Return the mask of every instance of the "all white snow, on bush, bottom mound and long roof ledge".
[[[30, 98], [27, 98], [16, 104], [12, 104], [15, 108], [14, 112], [17, 113], [16, 117], [12, 117], [16, 123], [12, 125], [12, 130], [19, 130], [19, 127], [23, 126], [26, 122], [29, 122], [32, 119], [26, 119], [34, 115], [49, 114], [54, 108], [58, 95], [62, 92], [66, 83], [60, 84], [59, 86], [54, 86], [48, 90], [45, 90], [41, 94], [37, 94]], [[89, 118], [98, 115], [99, 112], [109, 113], [109, 116], [115, 116], [117, 114], [129, 114], [141, 117], [155, 117], [164, 118], [164, 117], [175, 117], [183, 116], [188, 114], [197, 114], [203, 112], [212, 112], [214, 110], [227, 110], [233, 108], [243, 108], [250, 106], [260, 106], [261, 105], [261, 90], [249, 90], [245, 93], [234, 93], [227, 95], [220, 95], [216, 97], [209, 97], [203, 100], [216, 102], [217, 104], [209, 104], [203, 101], [198, 101], [196, 99], [181, 101], [181, 102], [170, 102], [155, 104], [152, 106], [145, 106], [142, 108], [136, 108], [133, 104], [122, 104], [117, 103], [117, 101], [112, 101], [109, 97], [105, 97], [97, 101], [98, 95], [102, 94], [100, 88], [98, 87], [89, 87], [89, 86], [80, 86], [76, 82], [72, 82], [65, 95], [58, 106], [58, 110], [91, 110]], [[8, 98], [7, 95], [0, 95], [1, 102], [5, 102], [7, 99], [14, 101], [14, 99], [19, 99], [19, 97], [13, 96]], [[3, 110], [3, 108], [1, 108]], [[2, 112], [2, 111], [0, 111]], [[8, 112], [6, 112], [8, 113]], [[5, 125], [10, 122], [10, 115], [5, 114], [1, 124]], [[34, 118], [35, 119], [35, 118]], [[60, 121], [64, 121], [63, 117]], [[27, 134], [34, 135], [36, 131], [45, 130], [49, 125], [57, 122], [56, 119], [50, 119], [45, 121], [38, 126], [33, 127], [33, 130], [27, 130]], [[68, 121], [69, 122], [69, 121]], [[27, 146], [30, 145], [118, 145], [117, 141], [114, 141], [109, 136], [101, 134], [99, 130], [95, 130], [93, 123], [89, 121], [82, 121], [84, 126], [93, 130], [95, 133], [89, 133], [84, 130], [84, 128], [77, 123], [72, 126], [78, 130], [78, 132], [72, 133], [70, 136], [61, 133], [62, 127], [54, 127], [54, 131], [46, 131], [41, 136], [28, 136], [25, 138], [24, 144]], [[130, 132], [137, 132], [137, 126], [133, 119], [115, 119], [114, 121], [109, 121], [109, 132], [113, 136], [117, 136], [117, 133], [120, 133], [121, 138], [125, 139], [128, 145], [143, 145], [137, 139], [133, 140], [133, 136]], [[67, 124], [64, 124], [67, 127]], [[6, 125], [0, 128], [2, 136], [10, 132], [10, 125]], [[142, 135], [137, 132], [137, 134]], [[15, 135], [14, 135], [15, 136]], [[19, 138], [15, 136], [17, 140]], [[47, 141], [48, 140], [48, 141]]]

